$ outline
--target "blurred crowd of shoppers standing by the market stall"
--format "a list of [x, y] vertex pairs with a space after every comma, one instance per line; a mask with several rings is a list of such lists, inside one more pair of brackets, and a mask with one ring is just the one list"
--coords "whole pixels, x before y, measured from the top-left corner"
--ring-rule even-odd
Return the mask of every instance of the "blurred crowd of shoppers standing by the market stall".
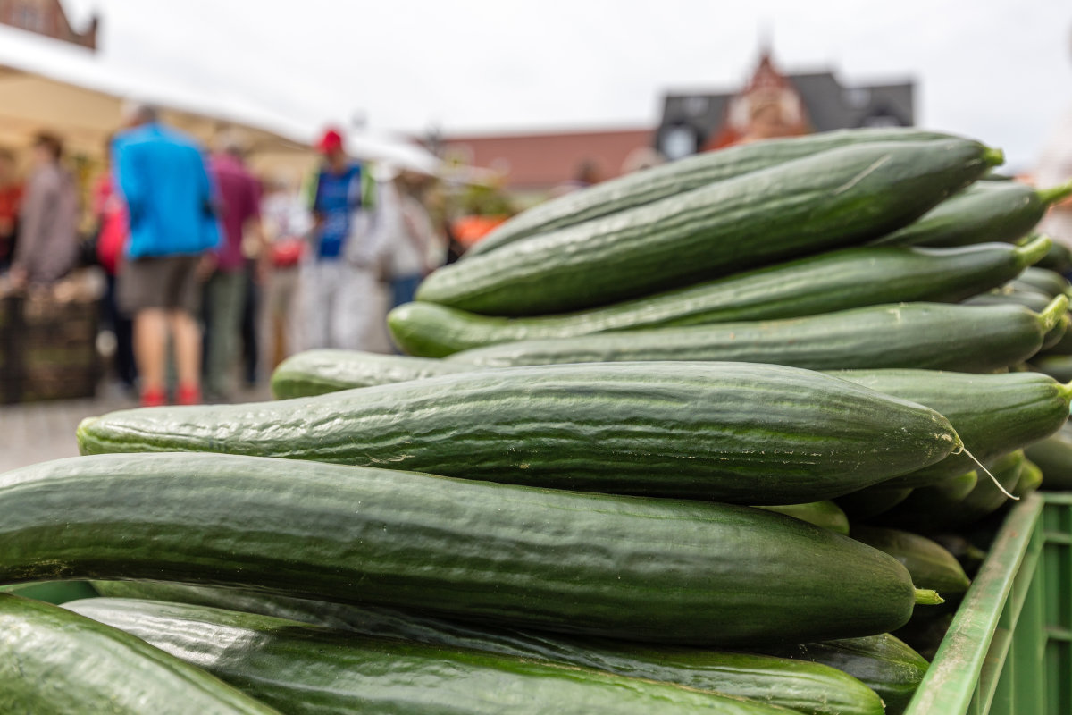
[[339, 130], [302, 180], [256, 176], [239, 133], [208, 151], [145, 104], [121, 123], [88, 236], [59, 137], [35, 138], [25, 181], [0, 150], [0, 273], [9, 293], [38, 291], [91, 247], [113, 372], [143, 405], [236, 399], [298, 351], [393, 352], [387, 311], [446, 259], [423, 177], [355, 160]]

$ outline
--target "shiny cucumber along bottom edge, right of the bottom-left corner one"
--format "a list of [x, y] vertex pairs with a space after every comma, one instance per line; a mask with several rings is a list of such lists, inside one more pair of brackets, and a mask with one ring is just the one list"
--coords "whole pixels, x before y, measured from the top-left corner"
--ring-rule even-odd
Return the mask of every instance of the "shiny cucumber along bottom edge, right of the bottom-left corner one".
[[358, 637], [253, 613], [111, 598], [69, 608], [137, 636], [294, 715], [793, 712], [667, 683]]

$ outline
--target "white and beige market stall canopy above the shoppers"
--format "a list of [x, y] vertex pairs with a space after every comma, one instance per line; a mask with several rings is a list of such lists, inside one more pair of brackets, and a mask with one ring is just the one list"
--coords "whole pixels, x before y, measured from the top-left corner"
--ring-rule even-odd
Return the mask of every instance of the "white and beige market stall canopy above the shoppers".
[[[255, 165], [309, 166], [318, 126], [307, 126], [224, 87], [183, 88], [167, 78], [118, 68], [88, 49], [0, 25], [0, 145], [21, 148], [35, 132], [60, 134], [77, 153], [100, 157], [120, 123], [126, 100], [152, 103], [164, 119], [209, 144], [225, 129], [240, 130]], [[438, 160], [421, 147], [385, 136], [351, 136], [359, 159], [390, 161], [434, 174]]]

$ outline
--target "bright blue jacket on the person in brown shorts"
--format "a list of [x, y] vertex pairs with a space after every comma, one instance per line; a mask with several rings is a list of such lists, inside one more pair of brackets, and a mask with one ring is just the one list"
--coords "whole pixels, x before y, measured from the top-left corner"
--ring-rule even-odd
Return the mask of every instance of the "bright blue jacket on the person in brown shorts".
[[220, 228], [212, 185], [197, 143], [152, 122], [113, 144], [116, 185], [130, 211], [126, 255], [197, 254], [215, 248]]

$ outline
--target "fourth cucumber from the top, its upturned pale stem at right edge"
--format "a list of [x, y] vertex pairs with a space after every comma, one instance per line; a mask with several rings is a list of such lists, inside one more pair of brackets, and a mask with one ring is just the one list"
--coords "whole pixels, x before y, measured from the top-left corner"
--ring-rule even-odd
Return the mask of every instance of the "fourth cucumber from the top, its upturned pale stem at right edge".
[[781, 321], [523, 340], [451, 355], [485, 368], [620, 360], [739, 360], [810, 370], [925, 368], [994, 372], [1042, 346], [1068, 312], [1060, 296], [1042, 313], [1017, 306], [897, 303]]

